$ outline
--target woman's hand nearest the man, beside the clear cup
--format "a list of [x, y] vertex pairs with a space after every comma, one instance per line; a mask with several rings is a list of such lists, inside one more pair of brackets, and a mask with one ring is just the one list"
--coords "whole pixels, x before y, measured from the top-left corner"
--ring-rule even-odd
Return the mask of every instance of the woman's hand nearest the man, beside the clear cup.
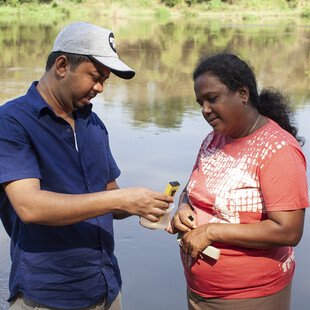
[[188, 232], [197, 227], [196, 213], [188, 203], [181, 203], [166, 229], [170, 234]]

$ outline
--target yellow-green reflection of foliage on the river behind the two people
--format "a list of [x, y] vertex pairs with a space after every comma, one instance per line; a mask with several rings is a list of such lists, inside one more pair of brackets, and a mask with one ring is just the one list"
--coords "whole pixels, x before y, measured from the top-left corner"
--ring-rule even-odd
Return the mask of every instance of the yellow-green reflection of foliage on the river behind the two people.
[[[160, 12], [164, 15], [170, 10], [162, 6]], [[57, 32], [69, 21], [59, 16], [54, 20], [51, 15], [46, 18], [46, 14], [44, 21], [25, 15], [12, 19], [7, 15], [0, 20], [0, 83], [4, 85], [0, 102], [12, 97], [17, 88], [19, 92], [26, 91], [23, 87], [28, 84], [24, 81], [40, 77]], [[277, 22], [272, 25], [258, 18], [252, 27], [250, 14], [244, 27], [230, 27], [232, 20], [236, 25], [244, 22], [230, 14], [219, 19], [195, 17], [176, 21], [149, 17], [98, 19], [98, 23], [113, 29], [121, 58], [137, 72], [133, 83], [115, 78], [115, 83], [121, 80], [121, 87], [114, 87], [113, 81], [108, 97], [119, 98], [118, 104], [132, 111], [136, 126], [176, 128], [182, 123], [183, 111], [196, 107], [191, 105], [191, 73], [198, 59], [214, 50], [235, 49], [253, 64], [260, 84], [285, 89], [300, 96], [301, 102], [309, 101], [309, 44], [304, 41], [309, 36], [308, 28], [299, 27], [299, 21], [288, 18], [275, 19]], [[125, 99], [120, 95], [122, 91]]]

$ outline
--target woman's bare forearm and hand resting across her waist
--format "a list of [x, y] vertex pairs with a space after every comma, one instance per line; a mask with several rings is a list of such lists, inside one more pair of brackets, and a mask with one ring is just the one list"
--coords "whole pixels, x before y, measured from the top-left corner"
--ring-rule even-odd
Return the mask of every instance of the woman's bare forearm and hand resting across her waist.
[[305, 210], [268, 212], [268, 219], [253, 224], [211, 223], [184, 234], [182, 249], [197, 258], [213, 242], [252, 249], [296, 246], [303, 233]]

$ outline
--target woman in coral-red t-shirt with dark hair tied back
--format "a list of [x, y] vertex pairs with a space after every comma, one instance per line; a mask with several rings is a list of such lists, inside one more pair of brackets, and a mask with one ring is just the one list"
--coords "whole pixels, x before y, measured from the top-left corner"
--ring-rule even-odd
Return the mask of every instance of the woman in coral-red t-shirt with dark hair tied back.
[[[168, 230], [184, 233], [188, 308], [290, 309], [292, 247], [309, 206], [292, 110], [279, 92], [258, 94], [253, 71], [233, 54], [204, 59], [193, 78], [213, 131]], [[210, 244], [218, 260], [201, 254]]]

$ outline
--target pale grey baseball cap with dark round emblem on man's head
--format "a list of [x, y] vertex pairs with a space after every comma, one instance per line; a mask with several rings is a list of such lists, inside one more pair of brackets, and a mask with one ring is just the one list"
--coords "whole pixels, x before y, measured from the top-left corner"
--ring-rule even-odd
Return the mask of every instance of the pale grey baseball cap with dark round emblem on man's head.
[[119, 59], [113, 32], [87, 22], [75, 22], [63, 28], [55, 39], [52, 52], [91, 56], [120, 78], [135, 76], [135, 71]]

